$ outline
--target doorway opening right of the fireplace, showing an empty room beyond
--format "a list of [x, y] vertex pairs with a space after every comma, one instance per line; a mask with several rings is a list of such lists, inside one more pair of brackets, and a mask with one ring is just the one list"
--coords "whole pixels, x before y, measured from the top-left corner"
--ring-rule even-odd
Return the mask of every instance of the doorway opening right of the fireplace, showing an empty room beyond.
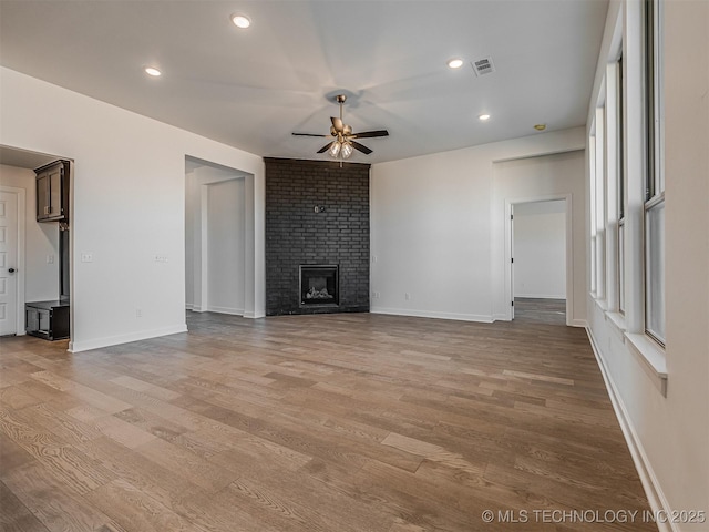
[[510, 319], [569, 325], [569, 198], [515, 201], [508, 208]]

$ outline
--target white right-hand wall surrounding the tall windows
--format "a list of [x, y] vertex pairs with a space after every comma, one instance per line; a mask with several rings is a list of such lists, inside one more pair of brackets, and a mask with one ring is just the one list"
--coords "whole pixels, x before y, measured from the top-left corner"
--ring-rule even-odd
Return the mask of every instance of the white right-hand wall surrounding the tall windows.
[[[667, 395], [655, 369], [630, 341], [643, 335], [641, 238], [628, 238], [625, 316], [588, 297], [589, 334], [619, 420], [655, 509], [709, 513], [709, 2], [664, 2], [666, 176]], [[643, 186], [639, 2], [613, 2], [589, 115], [615, 59], [612, 35], [624, 35], [626, 178]], [[635, 194], [641, 196], [640, 194]], [[630, 198], [629, 198], [630, 200]], [[641, 226], [641, 203], [626, 224]], [[635, 218], [635, 219], [634, 219]], [[626, 229], [628, 231], [628, 229]], [[633, 235], [631, 235], [633, 236]], [[639, 287], [639, 289], [638, 289]], [[633, 301], [636, 301], [633, 304]], [[657, 365], [657, 361], [655, 362]], [[707, 518], [709, 519], [709, 518]], [[699, 532], [707, 522], [661, 523], [661, 531]]]

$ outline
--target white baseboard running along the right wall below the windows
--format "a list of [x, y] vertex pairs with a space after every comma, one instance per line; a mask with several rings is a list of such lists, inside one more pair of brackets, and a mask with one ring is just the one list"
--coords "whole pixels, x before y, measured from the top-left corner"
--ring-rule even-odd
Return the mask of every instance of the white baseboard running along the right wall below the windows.
[[[630, 416], [628, 415], [628, 410], [623, 402], [623, 397], [618, 392], [618, 388], [616, 387], [616, 383], [613, 380], [610, 372], [608, 371], [608, 367], [604, 361], [603, 354], [598, 349], [598, 345], [589, 327], [586, 327], [586, 334], [588, 335], [590, 347], [594, 350], [596, 361], [598, 362], [598, 367], [600, 368], [600, 375], [603, 376], [603, 380], [606, 383], [606, 389], [608, 390], [608, 396], [610, 397], [613, 410], [616, 412], [616, 418], [618, 418], [618, 423], [620, 423], [620, 430], [623, 431], [625, 441], [628, 444], [628, 449], [630, 450], [630, 456], [633, 457], [635, 469], [638, 471], [638, 475], [640, 477], [640, 483], [645, 489], [645, 495], [647, 497], [648, 503], [650, 504], [650, 510], [653, 510], [655, 515], [657, 515], [658, 513], [661, 513], [662, 515], [671, 515], [669, 502], [667, 501], [667, 498], [662, 492], [659, 481], [657, 480], [657, 475], [653, 470], [653, 466], [650, 464], [650, 461], [647, 458], [647, 453], [643, 448], [643, 443], [640, 442], [635, 427], [633, 426]], [[662, 520], [659, 520], [656, 523], [659, 532], [680, 532], [680, 530], [676, 528], [676, 524], [670, 522], [671, 520], [667, 519], [665, 521], [667, 522], [662, 522]]]

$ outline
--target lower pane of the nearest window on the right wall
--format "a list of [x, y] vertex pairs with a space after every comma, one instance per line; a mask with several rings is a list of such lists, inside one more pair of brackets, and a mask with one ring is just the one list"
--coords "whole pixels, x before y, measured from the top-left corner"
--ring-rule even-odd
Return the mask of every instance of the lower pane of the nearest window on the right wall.
[[665, 344], [665, 202], [645, 213], [645, 247], [647, 278], [645, 279], [645, 328]]

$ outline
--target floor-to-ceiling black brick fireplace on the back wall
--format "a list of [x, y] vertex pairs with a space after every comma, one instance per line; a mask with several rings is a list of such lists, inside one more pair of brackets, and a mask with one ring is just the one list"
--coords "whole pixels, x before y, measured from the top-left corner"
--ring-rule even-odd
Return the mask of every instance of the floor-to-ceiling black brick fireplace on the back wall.
[[265, 162], [266, 315], [369, 311], [370, 165]]

